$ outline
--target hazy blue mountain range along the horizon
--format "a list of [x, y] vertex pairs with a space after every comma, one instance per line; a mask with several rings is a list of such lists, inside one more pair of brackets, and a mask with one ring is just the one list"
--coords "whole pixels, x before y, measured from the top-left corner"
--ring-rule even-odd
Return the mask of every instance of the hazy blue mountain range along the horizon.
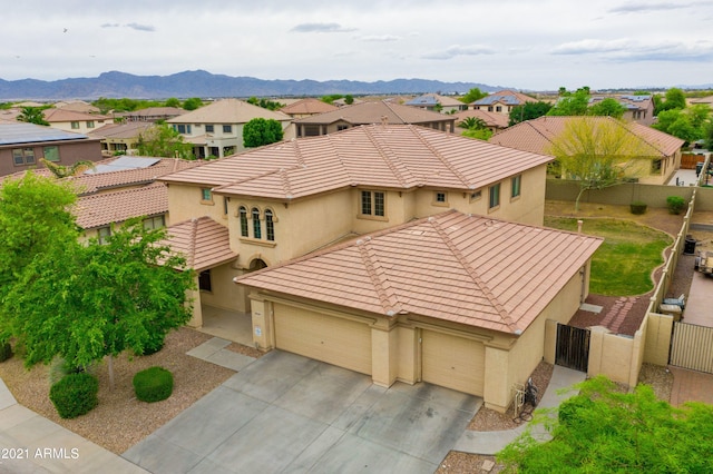
[[394, 79], [362, 82], [351, 80], [263, 80], [251, 77], [213, 75], [207, 71], [184, 71], [170, 76], [134, 76], [119, 71], [104, 72], [96, 78], [72, 78], [56, 81], [0, 79], [0, 100], [66, 100], [134, 98], [219, 98], [219, 97], [300, 97], [331, 93], [393, 95], [440, 92], [465, 93], [472, 88], [484, 92], [504, 88], [475, 82], [441, 82], [426, 79]]

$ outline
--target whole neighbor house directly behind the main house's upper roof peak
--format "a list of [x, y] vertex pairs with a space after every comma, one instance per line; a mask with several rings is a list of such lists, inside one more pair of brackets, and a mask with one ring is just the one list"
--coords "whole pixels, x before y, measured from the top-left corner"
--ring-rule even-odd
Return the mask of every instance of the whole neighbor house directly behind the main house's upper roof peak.
[[383, 100], [340, 107], [332, 112], [297, 119], [294, 126], [296, 137], [315, 137], [372, 124], [411, 124], [452, 132], [455, 121], [450, 116]]

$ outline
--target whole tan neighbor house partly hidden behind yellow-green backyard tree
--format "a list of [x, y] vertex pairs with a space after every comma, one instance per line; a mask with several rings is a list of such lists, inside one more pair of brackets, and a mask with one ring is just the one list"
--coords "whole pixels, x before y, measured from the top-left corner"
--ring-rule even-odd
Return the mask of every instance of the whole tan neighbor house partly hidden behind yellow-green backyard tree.
[[[491, 144], [536, 154], [549, 154], [553, 141], [566, 129], [568, 120], [578, 120], [582, 117], [539, 117], [509, 127], [494, 135]], [[596, 122], [621, 122], [612, 117], [588, 117]], [[621, 125], [624, 127], [624, 125]], [[642, 148], [651, 150], [642, 157], [632, 157], [636, 160], [638, 182], [648, 185], [664, 185], [681, 166], [681, 147], [684, 140], [655, 130], [637, 122], [629, 124], [629, 131], [641, 140]]]

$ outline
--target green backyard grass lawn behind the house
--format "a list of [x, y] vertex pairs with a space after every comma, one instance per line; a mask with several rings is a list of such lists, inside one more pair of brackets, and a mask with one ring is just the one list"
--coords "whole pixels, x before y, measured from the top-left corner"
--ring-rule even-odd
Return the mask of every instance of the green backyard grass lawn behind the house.
[[[583, 233], [604, 238], [592, 259], [589, 290], [596, 295], [642, 295], [654, 288], [651, 275], [663, 264], [672, 238], [631, 220], [582, 219]], [[545, 216], [545, 226], [577, 230], [577, 218]]]

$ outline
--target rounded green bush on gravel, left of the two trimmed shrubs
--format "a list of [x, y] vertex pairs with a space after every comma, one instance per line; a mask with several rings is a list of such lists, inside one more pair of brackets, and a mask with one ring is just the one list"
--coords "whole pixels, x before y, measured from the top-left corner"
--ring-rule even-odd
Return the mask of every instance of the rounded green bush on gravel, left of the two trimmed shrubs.
[[99, 381], [91, 374], [81, 372], [69, 374], [51, 386], [49, 399], [62, 418], [76, 418], [89, 413], [99, 398]]

